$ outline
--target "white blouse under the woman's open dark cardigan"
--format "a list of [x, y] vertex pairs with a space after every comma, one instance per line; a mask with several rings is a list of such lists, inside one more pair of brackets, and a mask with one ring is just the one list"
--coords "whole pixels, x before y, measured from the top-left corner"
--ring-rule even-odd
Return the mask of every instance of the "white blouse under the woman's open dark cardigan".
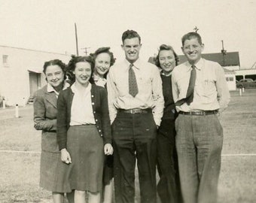
[[92, 85], [89, 83], [84, 92], [80, 92], [76, 88], [75, 83], [71, 86], [74, 98], [71, 107], [70, 126], [96, 124], [93, 116], [91, 88]]

